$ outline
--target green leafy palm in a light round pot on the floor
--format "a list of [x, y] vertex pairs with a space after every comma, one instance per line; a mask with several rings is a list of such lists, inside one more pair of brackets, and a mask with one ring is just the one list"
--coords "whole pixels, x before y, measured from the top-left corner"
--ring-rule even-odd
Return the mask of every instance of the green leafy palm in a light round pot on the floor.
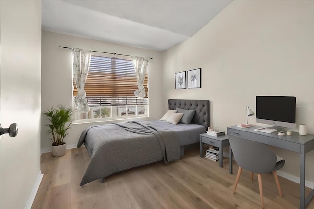
[[43, 115], [48, 119], [48, 123], [45, 124], [49, 127], [47, 133], [52, 135], [52, 138], [50, 138], [52, 140], [52, 156], [59, 157], [65, 154], [66, 143], [63, 140], [68, 135], [67, 130], [70, 129], [73, 121], [73, 112], [72, 107], [63, 105], [58, 105], [57, 108], [52, 107], [43, 112]]

